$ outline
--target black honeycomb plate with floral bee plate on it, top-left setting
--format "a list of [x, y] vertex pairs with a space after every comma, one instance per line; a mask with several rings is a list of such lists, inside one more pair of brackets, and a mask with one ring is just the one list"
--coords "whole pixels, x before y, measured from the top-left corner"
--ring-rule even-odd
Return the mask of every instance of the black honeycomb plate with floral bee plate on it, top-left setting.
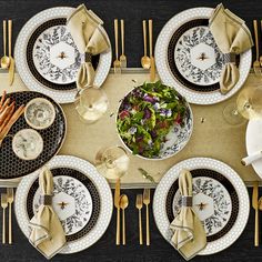
[[[32, 75], [54, 90], [75, 89], [82, 57], [67, 29], [66, 18], [46, 21], [31, 34], [27, 44], [27, 63]], [[100, 56], [92, 57], [97, 69]]]

